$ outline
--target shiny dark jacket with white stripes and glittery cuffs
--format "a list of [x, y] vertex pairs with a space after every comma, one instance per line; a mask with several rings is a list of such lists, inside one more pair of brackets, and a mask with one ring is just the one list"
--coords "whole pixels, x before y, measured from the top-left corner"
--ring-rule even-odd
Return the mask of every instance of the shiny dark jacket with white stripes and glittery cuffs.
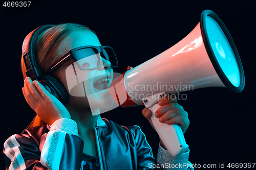
[[[160, 167], [164, 166], [168, 169], [189, 169], [184, 167], [184, 163], [190, 163], [189, 152], [173, 158], [160, 147], [155, 159], [138, 126], [119, 126], [99, 116], [94, 130], [100, 169], [163, 169]], [[83, 140], [78, 137], [77, 125], [72, 119], [56, 120], [51, 127], [25, 129], [4, 143], [6, 169], [78, 170], [81, 168], [82, 151]], [[171, 164], [176, 167], [169, 168]], [[183, 164], [182, 168], [177, 164]]]

